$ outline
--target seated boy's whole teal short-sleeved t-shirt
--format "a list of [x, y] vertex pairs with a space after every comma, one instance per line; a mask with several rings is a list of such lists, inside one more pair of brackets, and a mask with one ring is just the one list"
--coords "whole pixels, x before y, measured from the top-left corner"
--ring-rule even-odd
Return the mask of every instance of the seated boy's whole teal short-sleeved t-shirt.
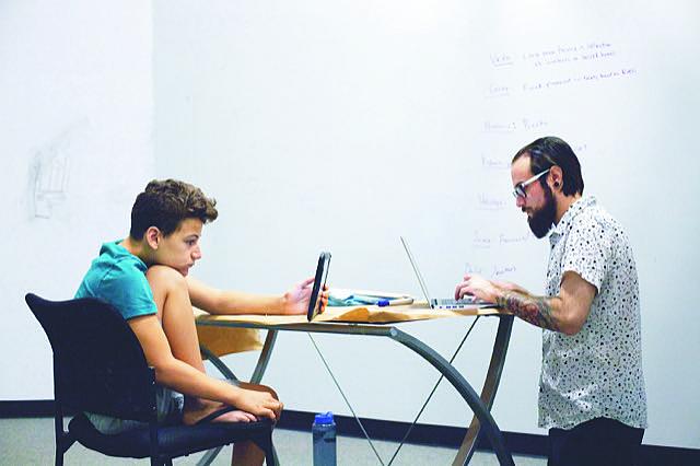
[[92, 261], [75, 298], [97, 298], [108, 302], [125, 319], [156, 314], [151, 286], [145, 279], [148, 267], [129, 253], [120, 241], [105, 243], [100, 257]]

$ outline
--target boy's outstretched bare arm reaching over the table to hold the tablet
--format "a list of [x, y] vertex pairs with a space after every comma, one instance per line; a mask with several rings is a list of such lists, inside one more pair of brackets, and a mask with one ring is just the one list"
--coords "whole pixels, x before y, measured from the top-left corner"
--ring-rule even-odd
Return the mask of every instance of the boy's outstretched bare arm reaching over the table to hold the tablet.
[[[220, 290], [187, 277], [189, 300], [195, 307], [210, 314], [305, 314], [311, 299], [313, 278], [296, 283], [280, 296]], [[328, 292], [322, 300], [328, 302]]]

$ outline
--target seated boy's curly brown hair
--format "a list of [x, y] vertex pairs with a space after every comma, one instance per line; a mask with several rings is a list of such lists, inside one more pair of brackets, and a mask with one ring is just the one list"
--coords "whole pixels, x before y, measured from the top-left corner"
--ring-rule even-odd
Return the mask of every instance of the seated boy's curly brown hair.
[[214, 199], [188, 183], [153, 179], [133, 202], [129, 235], [140, 241], [149, 226], [156, 226], [167, 236], [185, 219], [214, 221], [219, 217], [215, 205]]

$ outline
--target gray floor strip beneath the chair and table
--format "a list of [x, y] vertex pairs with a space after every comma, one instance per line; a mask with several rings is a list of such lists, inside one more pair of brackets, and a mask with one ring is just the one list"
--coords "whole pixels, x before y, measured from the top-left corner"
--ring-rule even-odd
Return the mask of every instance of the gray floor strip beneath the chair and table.
[[[394, 442], [373, 442], [384, 463], [394, 454]], [[275, 445], [283, 466], [308, 466], [312, 464], [311, 432], [277, 429]], [[394, 465], [450, 465], [455, 451], [452, 448], [404, 445]], [[176, 459], [177, 465], [195, 465], [201, 455]], [[214, 465], [228, 465], [231, 447], [222, 451]], [[50, 465], [54, 463], [54, 421], [49, 418], [0, 419], [0, 465]], [[74, 445], [66, 454], [67, 465], [127, 465], [148, 464], [148, 461], [120, 459], [91, 452], [82, 445]], [[338, 465], [378, 465], [376, 456], [364, 439], [338, 438]], [[542, 466], [540, 457], [515, 457], [515, 464]], [[495, 456], [477, 452], [470, 463], [476, 466], [498, 465]]]

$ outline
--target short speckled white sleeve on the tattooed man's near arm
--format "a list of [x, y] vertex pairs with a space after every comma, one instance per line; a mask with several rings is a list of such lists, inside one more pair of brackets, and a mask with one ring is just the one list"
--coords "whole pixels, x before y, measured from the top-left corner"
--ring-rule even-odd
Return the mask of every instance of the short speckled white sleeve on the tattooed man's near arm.
[[574, 271], [599, 292], [612, 251], [610, 235], [594, 218], [581, 220], [572, 225], [567, 240], [561, 261], [562, 277], [565, 271]]

